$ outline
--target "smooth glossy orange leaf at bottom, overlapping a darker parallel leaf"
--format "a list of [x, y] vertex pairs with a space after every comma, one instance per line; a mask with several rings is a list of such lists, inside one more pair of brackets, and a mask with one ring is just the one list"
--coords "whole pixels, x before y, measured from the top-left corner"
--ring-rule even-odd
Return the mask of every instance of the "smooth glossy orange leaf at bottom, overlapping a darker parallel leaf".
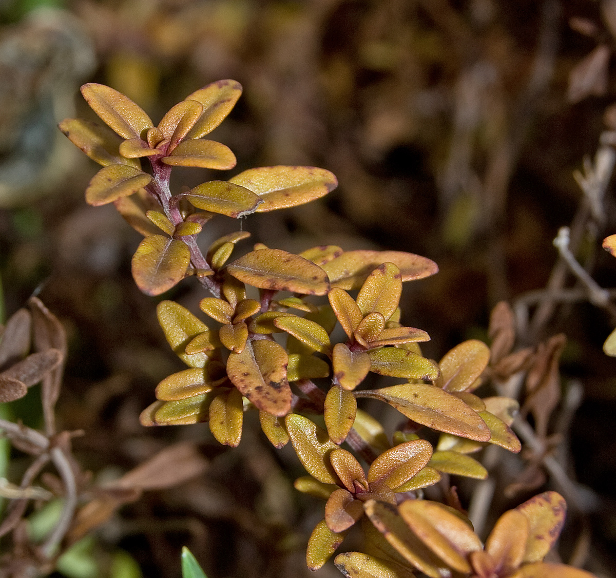
[[399, 511], [411, 531], [447, 566], [458, 572], [471, 572], [466, 558], [481, 550], [482, 545], [463, 519], [430, 500], [406, 500]]

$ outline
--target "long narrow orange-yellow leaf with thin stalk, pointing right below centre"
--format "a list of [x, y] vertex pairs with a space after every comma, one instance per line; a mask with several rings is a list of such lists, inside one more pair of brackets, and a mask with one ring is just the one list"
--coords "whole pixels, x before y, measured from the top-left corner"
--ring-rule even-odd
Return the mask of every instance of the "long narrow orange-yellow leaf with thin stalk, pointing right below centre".
[[359, 391], [355, 395], [381, 399], [409, 419], [438, 431], [475, 441], [490, 439], [490, 430], [477, 412], [457, 397], [432, 385], [405, 383]]

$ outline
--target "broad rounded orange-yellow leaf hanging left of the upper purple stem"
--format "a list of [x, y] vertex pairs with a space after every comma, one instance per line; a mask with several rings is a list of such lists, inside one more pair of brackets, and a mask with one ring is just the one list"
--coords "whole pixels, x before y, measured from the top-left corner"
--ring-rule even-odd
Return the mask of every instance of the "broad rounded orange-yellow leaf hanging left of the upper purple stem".
[[150, 235], [132, 256], [132, 277], [147, 295], [160, 295], [184, 279], [190, 249], [177, 239]]

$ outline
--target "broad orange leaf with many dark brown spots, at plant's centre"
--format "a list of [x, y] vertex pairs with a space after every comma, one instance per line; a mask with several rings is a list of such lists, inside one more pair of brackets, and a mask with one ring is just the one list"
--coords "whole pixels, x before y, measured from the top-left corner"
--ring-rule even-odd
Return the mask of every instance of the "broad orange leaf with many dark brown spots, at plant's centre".
[[258, 409], [283, 416], [291, 409], [287, 360], [285, 349], [275, 341], [247, 341], [241, 353], [229, 354], [227, 374]]

